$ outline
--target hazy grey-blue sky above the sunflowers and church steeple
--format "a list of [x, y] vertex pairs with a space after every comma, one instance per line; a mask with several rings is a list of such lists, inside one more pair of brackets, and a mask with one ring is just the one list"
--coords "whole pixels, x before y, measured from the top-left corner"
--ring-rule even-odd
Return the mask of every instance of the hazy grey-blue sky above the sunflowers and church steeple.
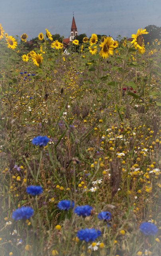
[[8, 35], [69, 38], [73, 11], [78, 34], [131, 37], [138, 28], [161, 27], [161, 0], [1, 0], [0, 23]]

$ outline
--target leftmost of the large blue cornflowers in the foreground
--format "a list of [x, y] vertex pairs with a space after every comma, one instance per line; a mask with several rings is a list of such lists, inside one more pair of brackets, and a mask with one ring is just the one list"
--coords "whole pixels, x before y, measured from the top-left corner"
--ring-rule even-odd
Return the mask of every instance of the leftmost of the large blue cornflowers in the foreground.
[[14, 220], [27, 220], [33, 215], [33, 209], [28, 206], [22, 206], [21, 208], [16, 209], [12, 213], [12, 218]]

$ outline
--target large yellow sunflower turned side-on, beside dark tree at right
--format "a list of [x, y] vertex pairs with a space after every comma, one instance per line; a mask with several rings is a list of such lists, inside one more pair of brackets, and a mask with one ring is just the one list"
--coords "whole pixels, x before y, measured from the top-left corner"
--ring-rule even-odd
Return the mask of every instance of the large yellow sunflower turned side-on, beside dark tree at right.
[[145, 52], [145, 48], [144, 48], [144, 43], [143, 43], [143, 34], [148, 34], [148, 32], [146, 31], [146, 29], [142, 30], [137, 30], [136, 34], [132, 34], [132, 38], [134, 38], [132, 40], [132, 44], [134, 44], [135, 49], [138, 48], [138, 52], [143, 54], [143, 52]]

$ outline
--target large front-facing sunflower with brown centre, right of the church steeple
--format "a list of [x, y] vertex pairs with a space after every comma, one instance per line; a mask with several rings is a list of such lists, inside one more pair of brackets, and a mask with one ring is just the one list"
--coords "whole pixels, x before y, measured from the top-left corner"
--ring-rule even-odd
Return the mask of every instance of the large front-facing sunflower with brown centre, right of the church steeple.
[[102, 58], [108, 58], [108, 56], [113, 54], [114, 50], [114, 41], [111, 37], [104, 38], [104, 41], [100, 44], [102, 50], [99, 52]]

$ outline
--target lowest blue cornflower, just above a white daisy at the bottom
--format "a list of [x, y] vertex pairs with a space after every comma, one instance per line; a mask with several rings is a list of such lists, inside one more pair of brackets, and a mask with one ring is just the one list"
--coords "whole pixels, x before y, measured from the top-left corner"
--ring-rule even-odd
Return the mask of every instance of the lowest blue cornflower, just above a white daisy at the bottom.
[[101, 236], [100, 230], [95, 230], [94, 228], [85, 228], [77, 232], [77, 237], [80, 240], [85, 240], [86, 242], [94, 241], [98, 236]]

